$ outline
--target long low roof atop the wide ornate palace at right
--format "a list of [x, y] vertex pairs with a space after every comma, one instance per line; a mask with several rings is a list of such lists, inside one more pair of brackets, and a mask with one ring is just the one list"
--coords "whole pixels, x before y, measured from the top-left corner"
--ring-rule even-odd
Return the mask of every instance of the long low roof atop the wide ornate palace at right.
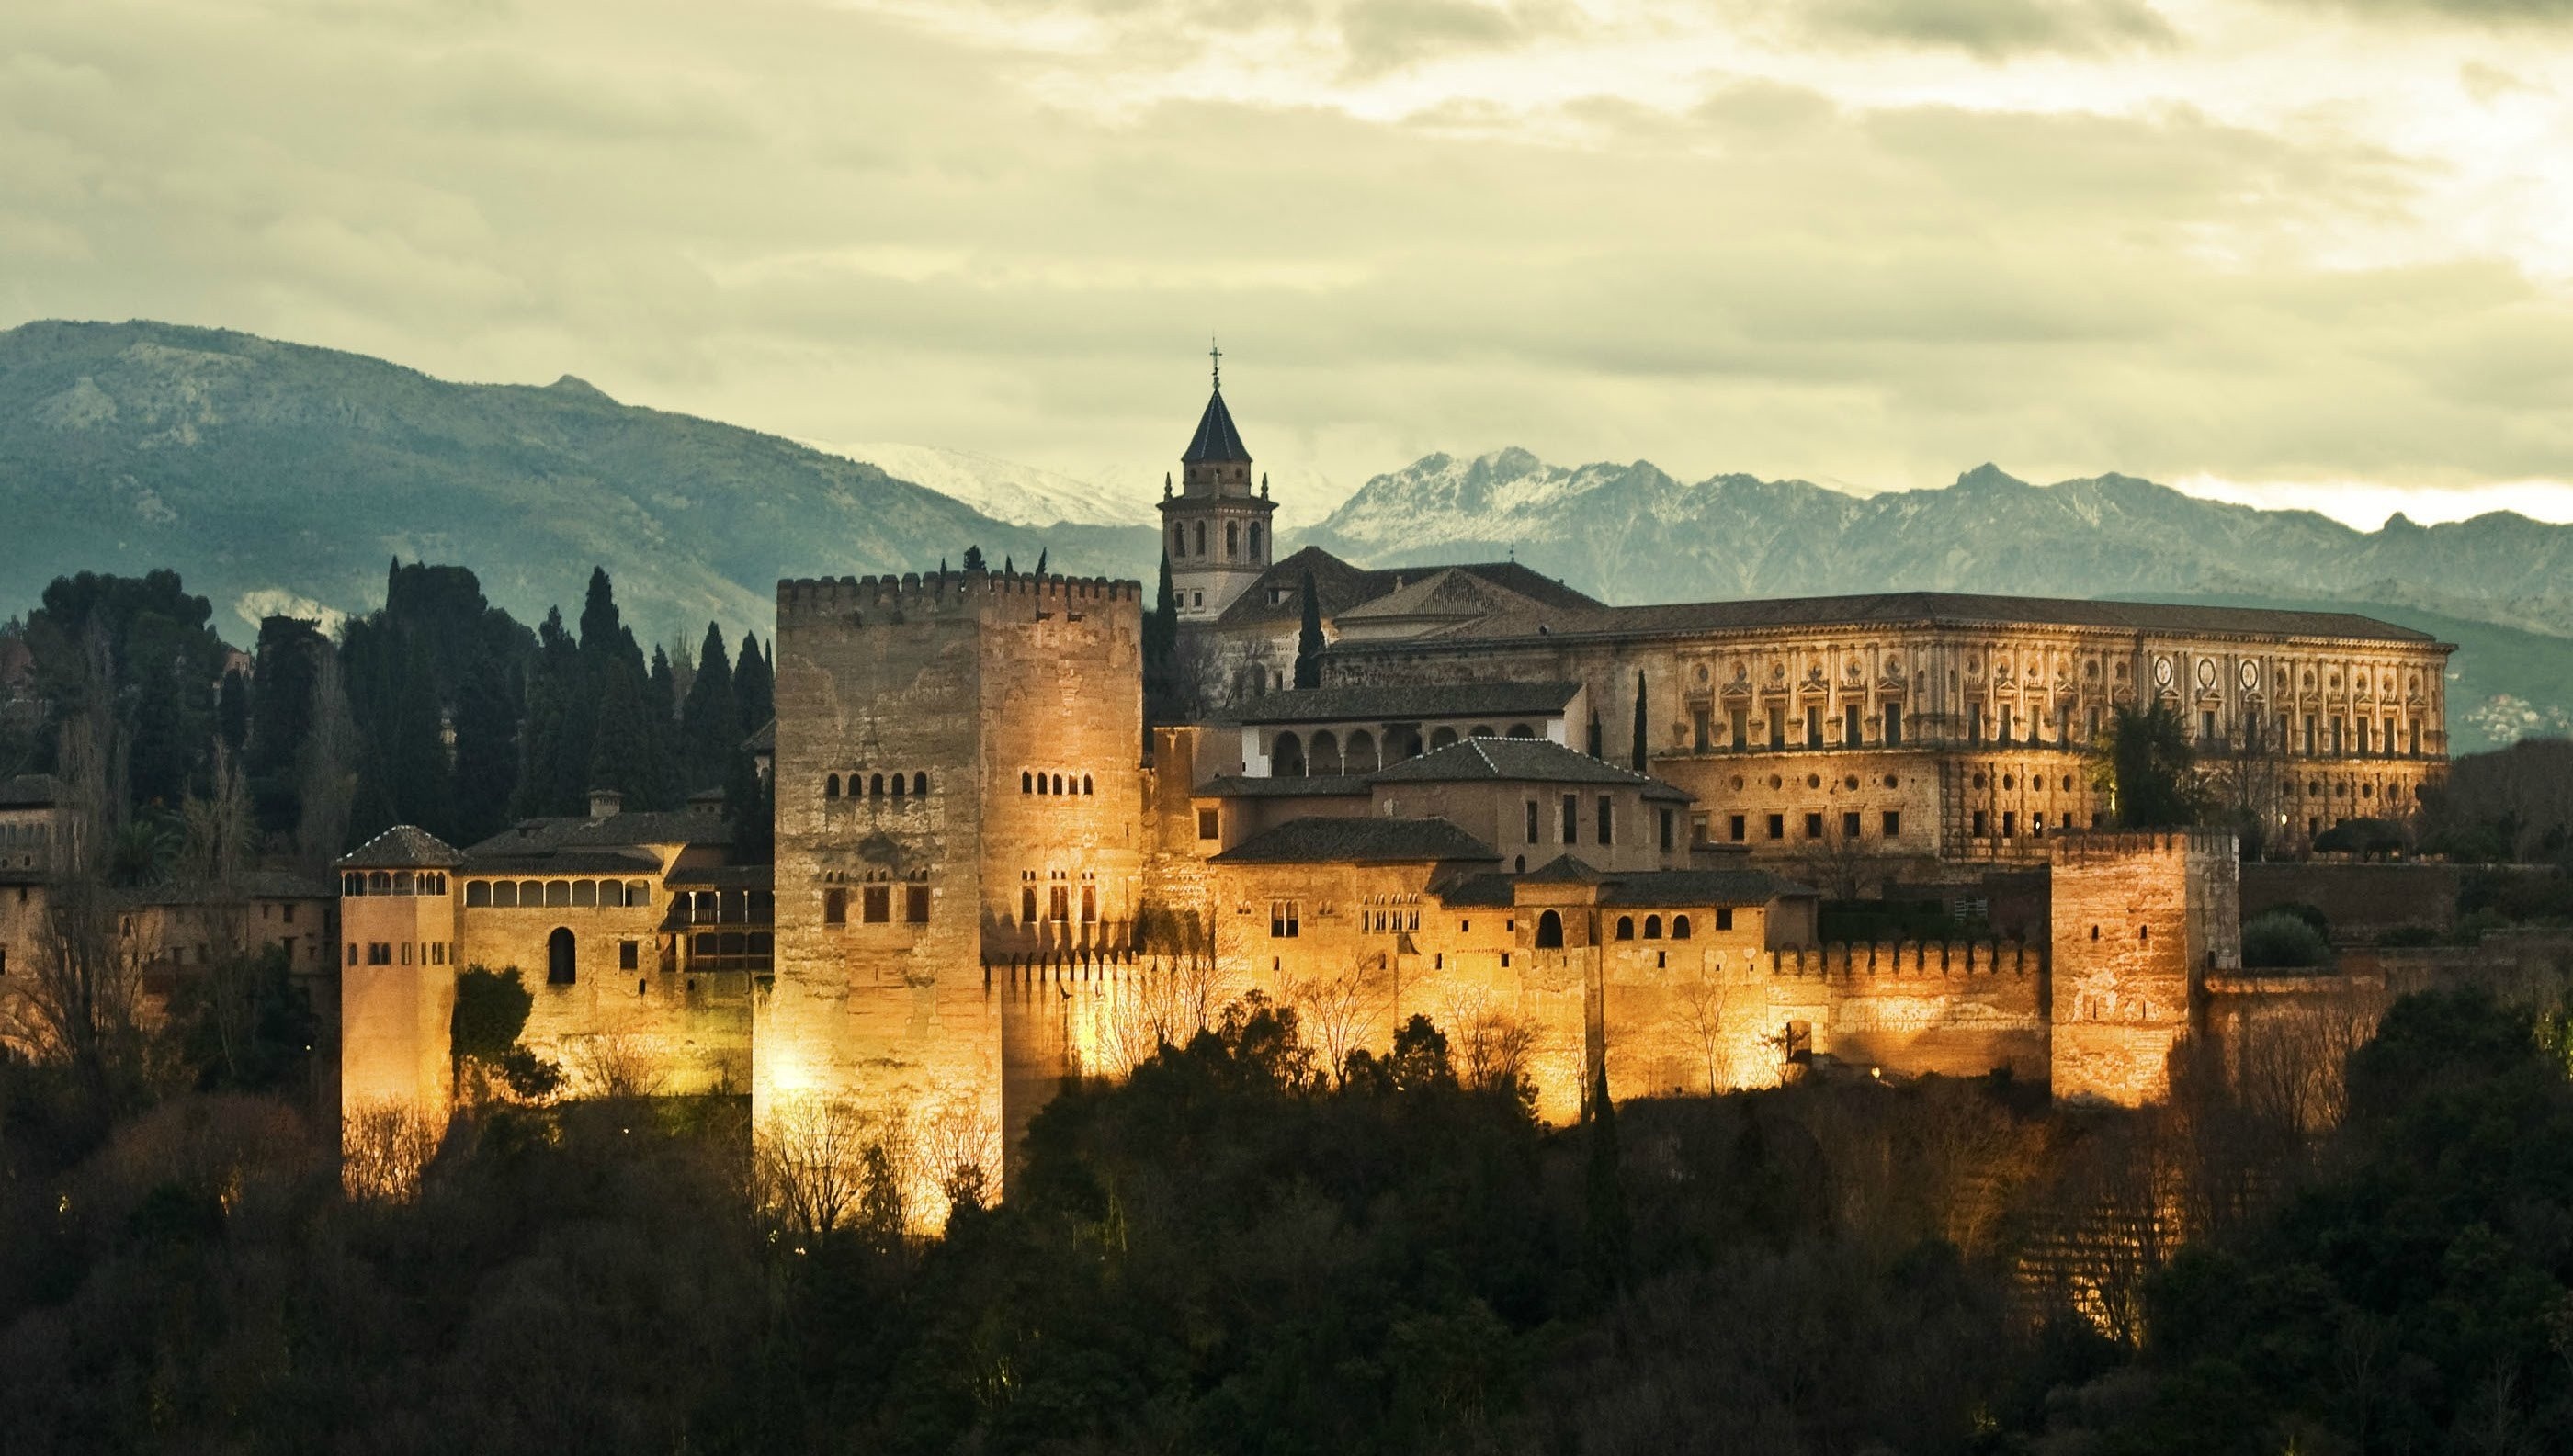
[[[1979, 592], [1871, 592], [1860, 597], [1773, 597], [1757, 602], [1672, 602], [1660, 607], [1513, 610], [1461, 623], [1441, 641], [1590, 638], [1724, 633], [1835, 625], [2064, 625], [2130, 633], [2210, 633], [2257, 638], [2359, 638], [2429, 643], [2426, 633], [2357, 612], [2280, 612], [2267, 607], [2197, 607], [2174, 602], [2084, 602], [2071, 597], [1997, 597]], [[1335, 643], [1369, 651], [1374, 643]]]

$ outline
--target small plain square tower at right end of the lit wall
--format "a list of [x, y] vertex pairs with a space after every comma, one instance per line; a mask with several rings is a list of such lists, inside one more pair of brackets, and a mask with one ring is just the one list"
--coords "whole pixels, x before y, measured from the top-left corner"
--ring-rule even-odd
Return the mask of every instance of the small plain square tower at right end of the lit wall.
[[2205, 978], [2244, 962], [2233, 833], [2053, 839], [2053, 942], [2056, 1098], [2161, 1101]]

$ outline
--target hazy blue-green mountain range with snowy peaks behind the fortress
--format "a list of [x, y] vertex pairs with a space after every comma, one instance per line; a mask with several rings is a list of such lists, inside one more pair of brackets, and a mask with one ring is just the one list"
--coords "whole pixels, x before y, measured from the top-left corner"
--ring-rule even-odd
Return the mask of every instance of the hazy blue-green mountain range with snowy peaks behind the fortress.
[[[929, 571], [967, 545], [993, 566], [1050, 553], [1055, 571], [1150, 579], [1140, 496], [965, 450], [805, 445], [618, 404], [571, 376], [450, 383], [154, 322], [0, 332], [0, 615], [64, 571], [175, 566], [247, 641], [265, 612], [371, 610], [399, 556], [471, 566], [522, 620], [574, 605], [600, 563], [638, 630], [692, 641], [710, 617], [767, 630], [780, 576]], [[2462, 643], [2460, 746], [2573, 728], [2573, 527], [2516, 514], [2370, 532], [2133, 476], [2035, 486], [1981, 466], [1945, 489], [1855, 496], [1495, 450], [1377, 476], [1281, 538], [1364, 566], [1515, 556], [1611, 602], [2334, 602]]]

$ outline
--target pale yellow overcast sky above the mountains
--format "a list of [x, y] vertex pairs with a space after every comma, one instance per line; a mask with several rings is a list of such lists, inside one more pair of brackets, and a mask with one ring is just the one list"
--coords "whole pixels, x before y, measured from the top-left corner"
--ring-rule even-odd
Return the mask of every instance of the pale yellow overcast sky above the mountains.
[[2573, 0], [5, 0], [44, 316], [1124, 481], [1217, 332], [1302, 496], [2573, 520]]

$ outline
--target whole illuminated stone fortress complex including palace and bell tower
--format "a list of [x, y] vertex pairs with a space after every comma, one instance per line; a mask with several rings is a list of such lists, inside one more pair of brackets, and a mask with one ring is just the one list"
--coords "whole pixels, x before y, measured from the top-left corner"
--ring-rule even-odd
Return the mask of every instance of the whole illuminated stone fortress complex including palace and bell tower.
[[[1515, 563], [1271, 558], [1220, 381], [1181, 471], [1202, 720], [1148, 728], [1132, 581], [780, 581], [774, 864], [705, 805], [389, 831], [342, 862], [345, 1109], [445, 1104], [466, 965], [520, 967], [576, 1075], [970, 1127], [993, 1168], [1065, 1078], [1250, 990], [1330, 1057], [1425, 1014], [1549, 1119], [1817, 1060], [2136, 1104], [2241, 965], [2239, 846], [2107, 831], [2107, 715], [2179, 713], [2287, 849], [2444, 767], [2449, 648], [2367, 617], [1608, 607]], [[1307, 576], [1330, 646], [1286, 689]], [[1822, 939], [1824, 898], [1981, 921], [2012, 885], [2010, 934]]]

